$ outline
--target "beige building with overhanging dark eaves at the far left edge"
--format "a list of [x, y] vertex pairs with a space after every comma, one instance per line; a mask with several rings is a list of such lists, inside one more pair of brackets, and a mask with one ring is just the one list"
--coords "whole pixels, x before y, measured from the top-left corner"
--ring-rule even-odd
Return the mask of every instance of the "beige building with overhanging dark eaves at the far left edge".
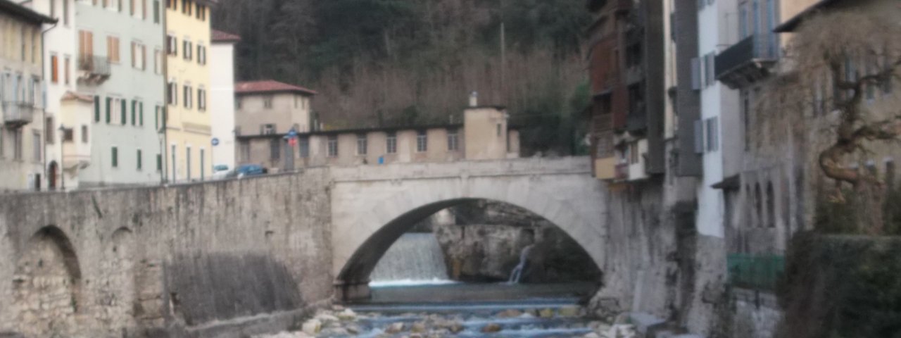
[[42, 186], [41, 24], [53, 21], [29, 8], [0, 0], [0, 190]]

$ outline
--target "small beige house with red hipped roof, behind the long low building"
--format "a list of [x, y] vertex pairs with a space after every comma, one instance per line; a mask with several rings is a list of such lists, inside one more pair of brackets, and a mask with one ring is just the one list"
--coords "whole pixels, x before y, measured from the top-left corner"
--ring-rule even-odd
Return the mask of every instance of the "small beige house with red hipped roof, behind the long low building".
[[316, 124], [311, 112], [312, 89], [274, 80], [238, 82], [234, 85], [235, 125], [239, 135], [311, 132]]

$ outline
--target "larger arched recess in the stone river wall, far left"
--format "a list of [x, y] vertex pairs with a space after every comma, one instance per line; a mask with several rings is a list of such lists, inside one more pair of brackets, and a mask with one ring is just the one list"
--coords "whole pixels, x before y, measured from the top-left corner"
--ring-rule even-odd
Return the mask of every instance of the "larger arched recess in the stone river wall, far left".
[[41, 228], [16, 262], [13, 304], [25, 336], [71, 336], [79, 300], [81, 269], [75, 248], [56, 226]]

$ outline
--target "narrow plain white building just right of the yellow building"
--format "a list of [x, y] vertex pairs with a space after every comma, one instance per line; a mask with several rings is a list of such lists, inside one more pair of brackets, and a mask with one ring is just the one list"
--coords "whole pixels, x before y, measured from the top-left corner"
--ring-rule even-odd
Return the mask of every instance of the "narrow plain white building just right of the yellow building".
[[241, 37], [227, 32], [213, 31], [210, 41], [210, 108], [212, 111], [213, 162], [214, 166], [235, 165], [235, 122], [234, 122], [234, 44]]

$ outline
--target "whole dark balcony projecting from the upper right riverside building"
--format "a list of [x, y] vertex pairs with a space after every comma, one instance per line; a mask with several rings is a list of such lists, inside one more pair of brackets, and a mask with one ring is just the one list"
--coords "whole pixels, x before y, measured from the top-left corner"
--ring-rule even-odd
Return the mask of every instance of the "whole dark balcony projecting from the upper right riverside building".
[[716, 79], [736, 89], [769, 76], [779, 58], [776, 34], [755, 34], [716, 56]]

